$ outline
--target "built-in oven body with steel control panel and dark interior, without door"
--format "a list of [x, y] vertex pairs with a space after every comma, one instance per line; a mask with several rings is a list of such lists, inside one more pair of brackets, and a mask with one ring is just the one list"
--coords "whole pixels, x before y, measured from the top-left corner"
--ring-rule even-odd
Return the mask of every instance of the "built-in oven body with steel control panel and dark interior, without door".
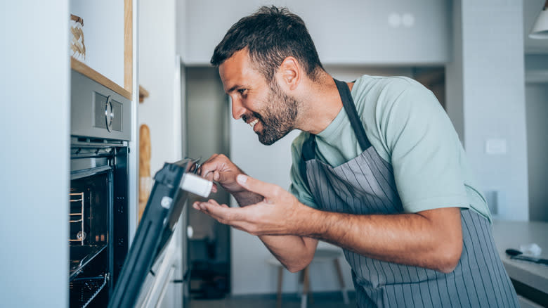
[[71, 71], [70, 307], [106, 307], [128, 252], [131, 101]]

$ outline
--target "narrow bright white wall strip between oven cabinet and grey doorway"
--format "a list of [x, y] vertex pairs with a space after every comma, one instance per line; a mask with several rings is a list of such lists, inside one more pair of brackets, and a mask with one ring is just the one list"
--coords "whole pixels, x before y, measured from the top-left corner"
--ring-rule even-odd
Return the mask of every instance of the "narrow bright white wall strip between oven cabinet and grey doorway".
[[[164, 162], [181, 159], [181, 105], [175, 98], [175, 0], [139, 4], [138, 80], [150, 96], [139, 104], [138, 122], [150, 128], [152, 177]], [[177, 103], [176, 103], [177, 101]]]

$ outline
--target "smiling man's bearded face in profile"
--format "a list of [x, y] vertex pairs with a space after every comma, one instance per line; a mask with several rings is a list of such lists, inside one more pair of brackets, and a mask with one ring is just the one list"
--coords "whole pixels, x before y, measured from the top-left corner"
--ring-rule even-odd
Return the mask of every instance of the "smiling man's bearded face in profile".
[[237, 51], [219, 66], [226, 93], [232, 98], [232, 113], [242, 118], [267, 146], [295, 127], [299, 103], [283, 93], [276, 82], [267, 82], [254, 69], [247, 50]]

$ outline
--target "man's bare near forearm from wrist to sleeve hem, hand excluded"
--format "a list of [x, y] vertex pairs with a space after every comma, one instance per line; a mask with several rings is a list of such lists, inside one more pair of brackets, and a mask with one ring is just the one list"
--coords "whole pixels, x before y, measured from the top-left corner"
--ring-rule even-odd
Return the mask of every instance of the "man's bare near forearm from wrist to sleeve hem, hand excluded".
[[299, 223], [299, 235], [374, 259], [448, 272], [462, 252], [458, 208], [391, 215], [304, 210], [308, 213], [301, 214], [306, 219]]

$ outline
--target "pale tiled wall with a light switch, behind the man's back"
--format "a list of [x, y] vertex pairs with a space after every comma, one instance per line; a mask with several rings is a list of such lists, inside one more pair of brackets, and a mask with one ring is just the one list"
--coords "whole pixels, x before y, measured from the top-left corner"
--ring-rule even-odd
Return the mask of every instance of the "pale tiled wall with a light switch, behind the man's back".
[[[483, 191], [499, 191], [497, 218], [527, 220], [528, 175], [522, 1], [455, 0], [448, 113]], [[489, 155], [490, 139], [506, 152]]]

